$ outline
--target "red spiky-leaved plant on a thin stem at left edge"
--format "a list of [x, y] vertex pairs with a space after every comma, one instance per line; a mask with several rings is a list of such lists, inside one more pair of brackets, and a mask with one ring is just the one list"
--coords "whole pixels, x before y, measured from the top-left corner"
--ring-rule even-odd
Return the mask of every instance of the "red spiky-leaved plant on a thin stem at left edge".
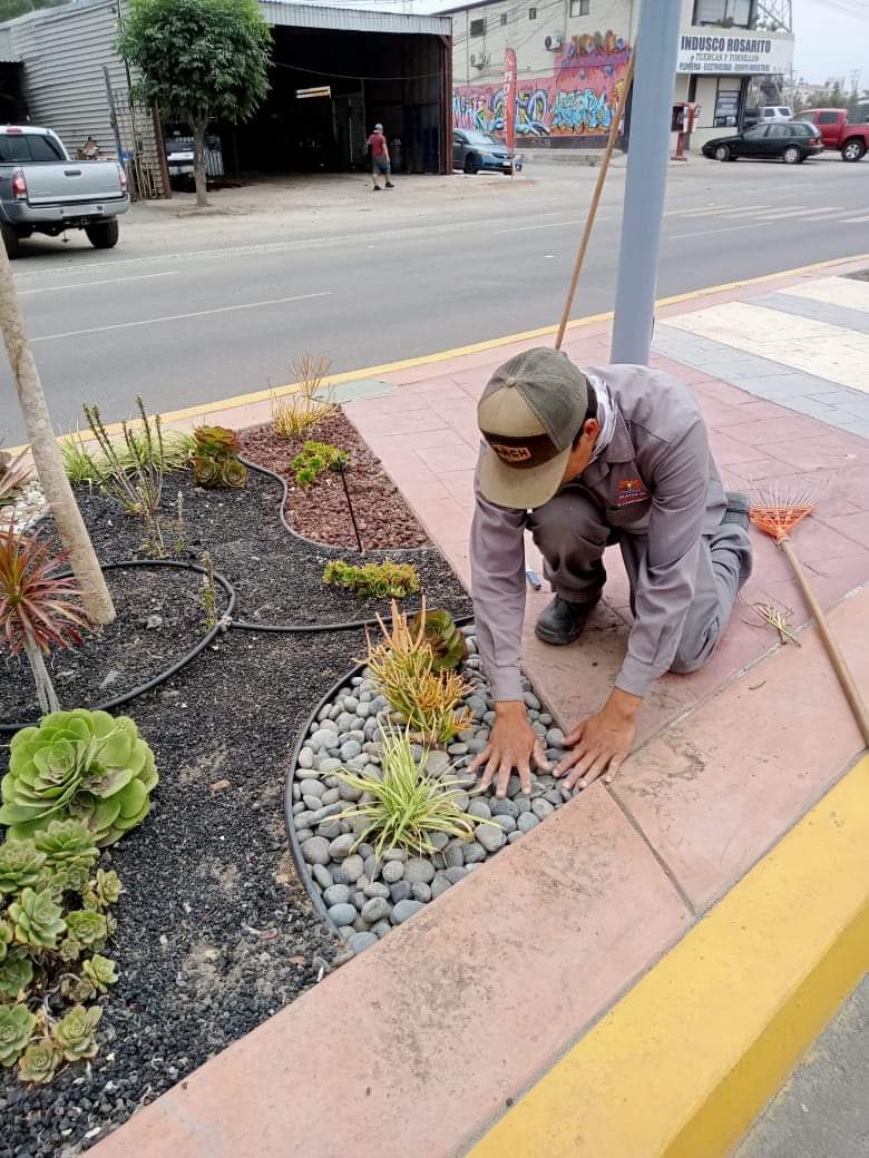
[[80, 644], [79, 628], [88, 626], [75, 579], [57, 574], [65, 560], [65, 554], [52, 555], [37, 537], [16, 535], [12, 527], [0, 535], [0, 647], [27, 654], [43, 712], [60, 708], [43, 654], [52, 644]]

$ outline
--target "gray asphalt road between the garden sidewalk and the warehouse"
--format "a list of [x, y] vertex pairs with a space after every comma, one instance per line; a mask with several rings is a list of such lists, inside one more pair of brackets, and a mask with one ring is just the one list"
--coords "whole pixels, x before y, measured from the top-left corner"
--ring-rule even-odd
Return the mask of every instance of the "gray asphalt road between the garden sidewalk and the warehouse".
[[[660, 295], [869, 251], [869, 161], [671, 170]], [[283, 384], [305, 351], [356, 369], [554, 323], [594, 171], [528, 175], [516, 192], [457, 176], [372, 195], [356, 178], [331, 210], [315, 178], [309, 211], [280, 228], [273, 213], [193, 228], [143, 208], [111, 251], [35, 239], [14, 270], [56, 427], [80, 423], [83, 401], [111, 420], [137, 393], [167, 411]], [[574, 316], [613, 306], [623, 179], [611, 176]], [[23, 440], [5, 365], [0, 433]]]

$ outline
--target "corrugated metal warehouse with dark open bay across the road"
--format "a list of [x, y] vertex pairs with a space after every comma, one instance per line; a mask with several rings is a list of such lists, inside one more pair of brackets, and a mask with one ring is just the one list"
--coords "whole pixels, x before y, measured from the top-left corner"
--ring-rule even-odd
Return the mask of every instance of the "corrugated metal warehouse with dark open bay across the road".
[[[377, 122], [402, 169], [448, 171], [448, 17], [260, 6], [273, 30], [271, 90], [248, 124], [212, 126], [212, 176], [355, 168]], [[161, 196], [163, 140], [187, 126], [131, 102], [134, 78], [115, 51], [124, 12], [116, 0], [73, 0], [0, 25], [0, 119], [53, 129], [73, 154], [89, 137], [103, 155], [121, 151], [141, 196]]]

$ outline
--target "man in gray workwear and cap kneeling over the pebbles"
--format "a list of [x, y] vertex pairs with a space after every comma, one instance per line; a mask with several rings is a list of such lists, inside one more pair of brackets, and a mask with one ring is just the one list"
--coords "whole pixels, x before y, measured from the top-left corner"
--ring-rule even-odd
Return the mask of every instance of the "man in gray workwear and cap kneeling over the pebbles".
[[555, 593], [535, 633], [553, 646], [582, 635], [606, 581], [604, 550], [618, 543], [634, 613], [628, 652], [555, 769], [568, 787], [586, 787], [628, 756], [655, 680], [696, 670], [721, 639], [751, 574], [748, 500], [724, 493], [688, 388], [645, 366], [582, 371], [560, 351], [525, 351], [492, 374], [477, 425], [472, 595], [495, 723], [470, 768], [504, 796], [511, 772], [527, 792], [532, 762], [549, 767], [519, 675], [526, 528]]

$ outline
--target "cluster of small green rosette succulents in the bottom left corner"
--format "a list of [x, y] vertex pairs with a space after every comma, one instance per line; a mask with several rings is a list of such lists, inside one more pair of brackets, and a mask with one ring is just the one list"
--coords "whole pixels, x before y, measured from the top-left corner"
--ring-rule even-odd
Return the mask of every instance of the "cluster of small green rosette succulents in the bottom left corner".
[[122, 892], [117, 873], [94, 872], [97, 857], [80, 821], [0, 844], [0, 1065], [21, 1082], [97, 1053], [102, 1007], [88, 1003], [118, 980], [103, 950]]

